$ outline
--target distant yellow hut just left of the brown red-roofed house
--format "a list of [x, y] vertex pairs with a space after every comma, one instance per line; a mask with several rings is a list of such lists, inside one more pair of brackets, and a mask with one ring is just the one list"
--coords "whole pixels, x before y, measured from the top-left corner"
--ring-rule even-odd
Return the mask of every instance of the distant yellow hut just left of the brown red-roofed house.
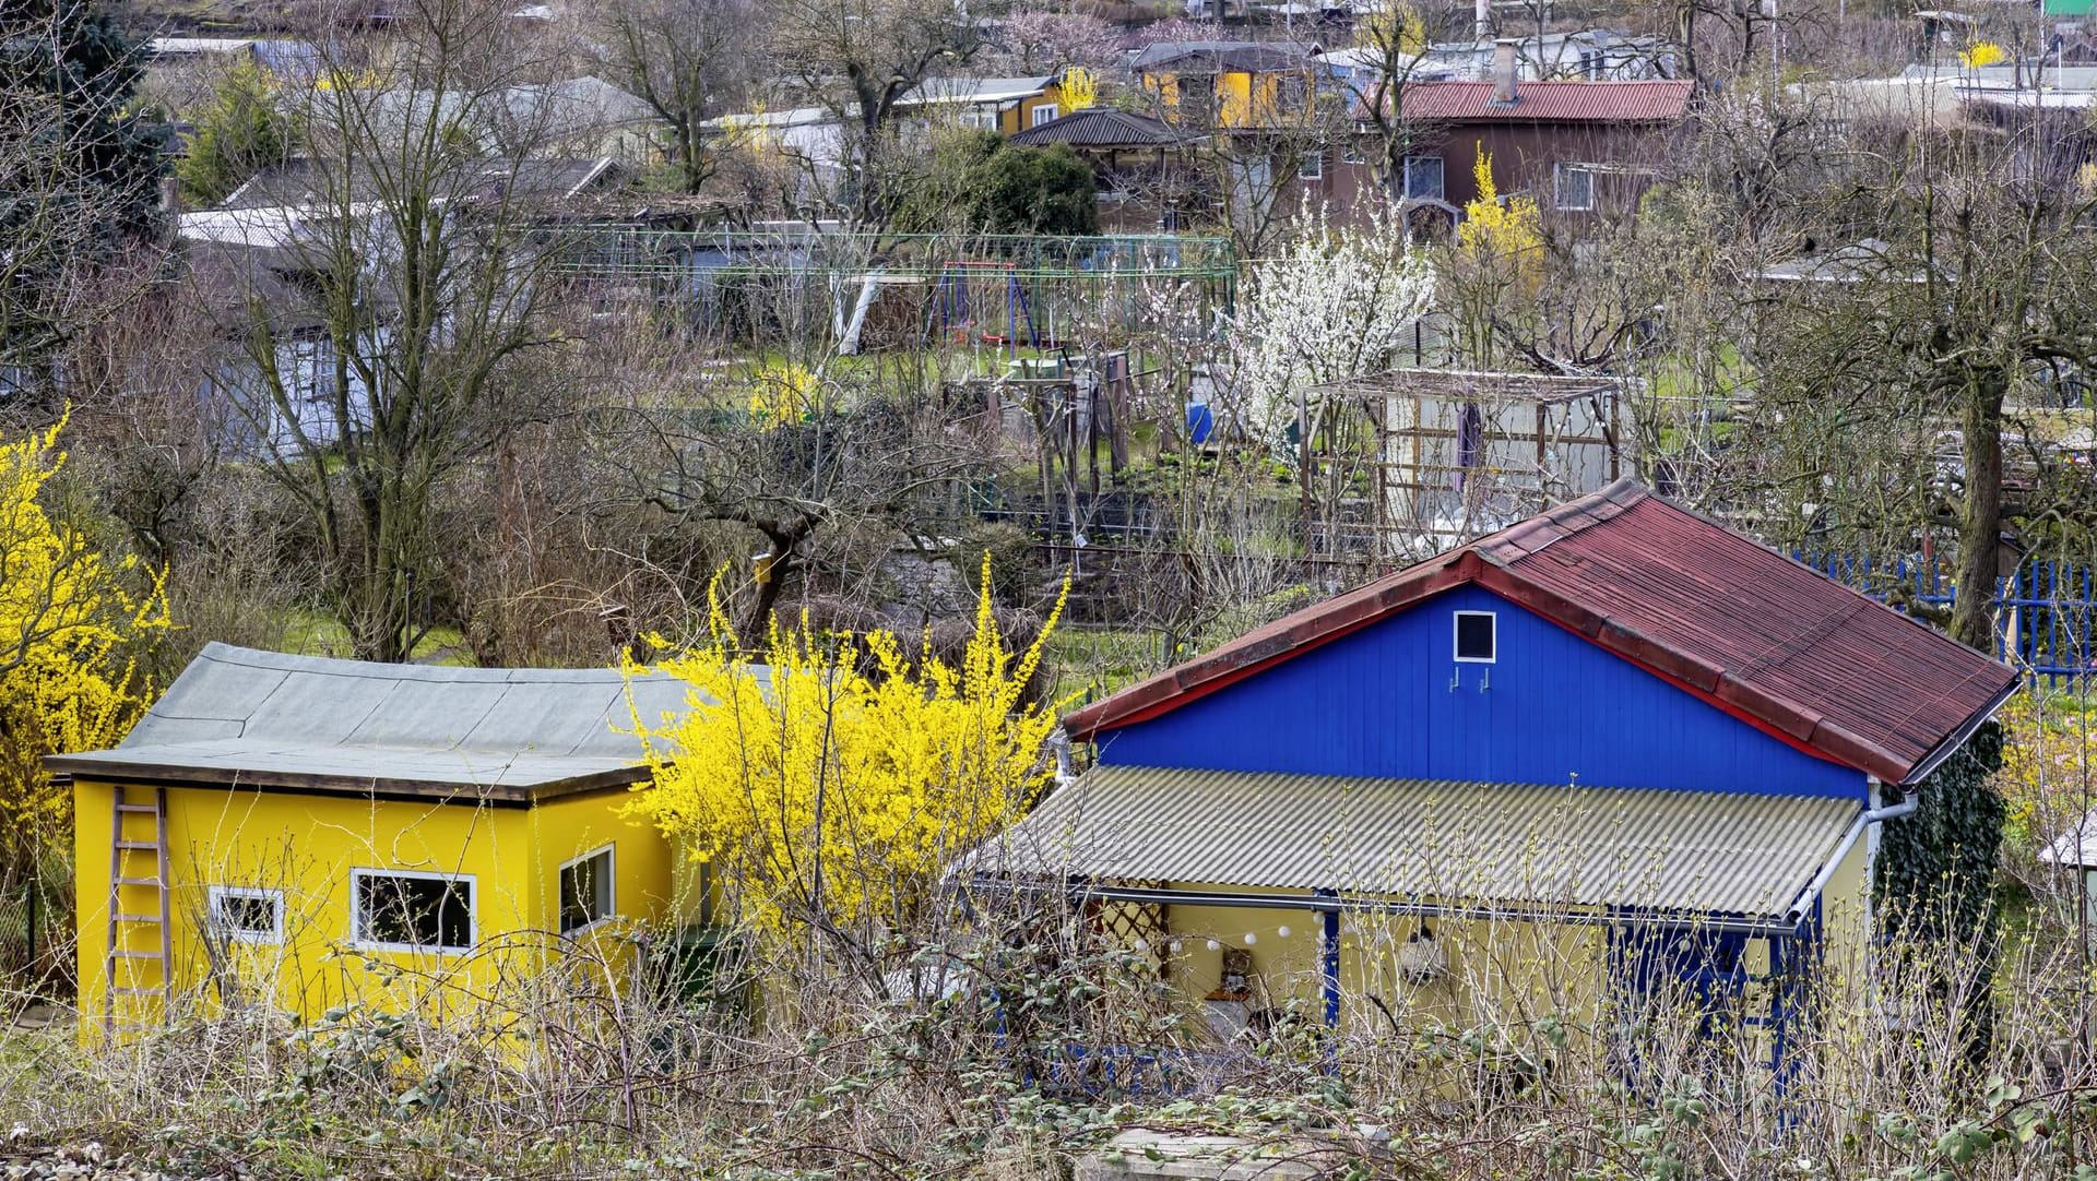
[[1311, 46], [1267, 42], [1162, 42], [1134, 61], [1137, 80], [1183, 128], [1254, 132], [1317, 117]]

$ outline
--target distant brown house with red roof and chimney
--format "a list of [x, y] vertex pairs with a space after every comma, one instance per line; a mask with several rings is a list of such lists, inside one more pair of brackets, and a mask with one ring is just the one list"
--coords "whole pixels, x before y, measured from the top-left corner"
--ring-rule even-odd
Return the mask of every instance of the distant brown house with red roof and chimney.
[[[1652, 184], [1688, 119], [1690, 84], [1520, 82], [1510, 42], [1491, 82], [1415, 82], [1401, 90], [1403, 126], [1420, 144], [1392, 188], [1409, 214], [1451, 222], [1478, 199], [1474, 163], [1493, 161], [1501, 197], [1527, 193], [1545, 218], [1625, 216]], [[1350, 153], [1367, 170], [1376, 151]]]

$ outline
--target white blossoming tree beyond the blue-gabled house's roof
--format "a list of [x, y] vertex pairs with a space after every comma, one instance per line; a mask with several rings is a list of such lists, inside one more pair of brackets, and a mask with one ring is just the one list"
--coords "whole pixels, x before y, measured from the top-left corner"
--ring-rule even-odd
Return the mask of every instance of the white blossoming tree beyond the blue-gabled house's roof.
[[1306, 211], [1283, 251], [1252, 266], [1233, 322], [1248, 429], [1288, 450], [1279, 440], [1298, 404], [1317, 423], [1319, 385], [1388, 369], [1432, 299], [1434, 270], [1407, 247], [1403, 222], [1334, 226], [1323, 209]]

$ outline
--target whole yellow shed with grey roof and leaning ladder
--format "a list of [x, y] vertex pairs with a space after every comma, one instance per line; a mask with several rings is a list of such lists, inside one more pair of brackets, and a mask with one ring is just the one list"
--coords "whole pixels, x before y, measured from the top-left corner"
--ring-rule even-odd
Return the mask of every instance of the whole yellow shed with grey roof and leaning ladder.
[[208, 645], [122, 745], [48, 760], [73, 783], [84, 1026], [445, 1005], [696, 919], [696, 875], [621, 817], [648, 777], [631, 708], [684, 687], [627, 689]]

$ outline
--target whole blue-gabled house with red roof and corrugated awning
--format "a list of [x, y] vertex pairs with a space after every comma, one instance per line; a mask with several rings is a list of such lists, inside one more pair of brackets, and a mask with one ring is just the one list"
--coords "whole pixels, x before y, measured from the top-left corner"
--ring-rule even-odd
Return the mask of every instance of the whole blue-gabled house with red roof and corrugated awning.
[[1069, 714], [1093, 766], [977, 865], [1218, 1032], [1665, 986], [1782, 1057], [1795, 967], [1860, 978], [1879, 827], [2017, 683], [1621, 480]]

